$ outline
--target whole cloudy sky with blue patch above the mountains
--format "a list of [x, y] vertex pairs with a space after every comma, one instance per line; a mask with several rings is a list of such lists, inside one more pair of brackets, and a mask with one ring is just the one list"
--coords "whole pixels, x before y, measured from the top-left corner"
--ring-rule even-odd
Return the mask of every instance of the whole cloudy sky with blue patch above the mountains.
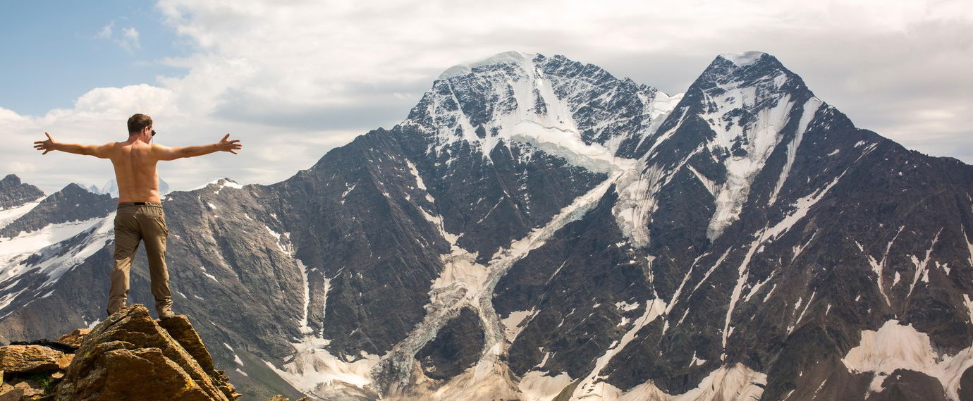
[[450, 66], [565, 55], [669, 94], [720, 54], [762, 51], [903, 146], [973, 164], [973, 2], [4, 1], [0, 176], [50, 194], [111, 164], [32, 142], [124, 140], [134, 113], [167, 146], [240, 139], [160, 164], [173, 189], [270, 184], [391, 128]]

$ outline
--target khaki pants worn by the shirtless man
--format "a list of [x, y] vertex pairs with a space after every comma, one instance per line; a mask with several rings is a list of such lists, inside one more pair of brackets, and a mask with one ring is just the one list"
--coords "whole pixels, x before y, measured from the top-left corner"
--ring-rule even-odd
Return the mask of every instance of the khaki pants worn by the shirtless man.
[[165, 268], [165, 237], [168, 235], [162, 203], [119, 203], [118, 214], [115, 215], [115, 267], [112, 269], [111, 288], [108, 290], [109, 314], [125, 306], [131, 260], [138, 249], [138, 242], [145, 241], [152, 295], [156, 297], [156, 311], [160, 317], [172, 315], [169, 273]]

